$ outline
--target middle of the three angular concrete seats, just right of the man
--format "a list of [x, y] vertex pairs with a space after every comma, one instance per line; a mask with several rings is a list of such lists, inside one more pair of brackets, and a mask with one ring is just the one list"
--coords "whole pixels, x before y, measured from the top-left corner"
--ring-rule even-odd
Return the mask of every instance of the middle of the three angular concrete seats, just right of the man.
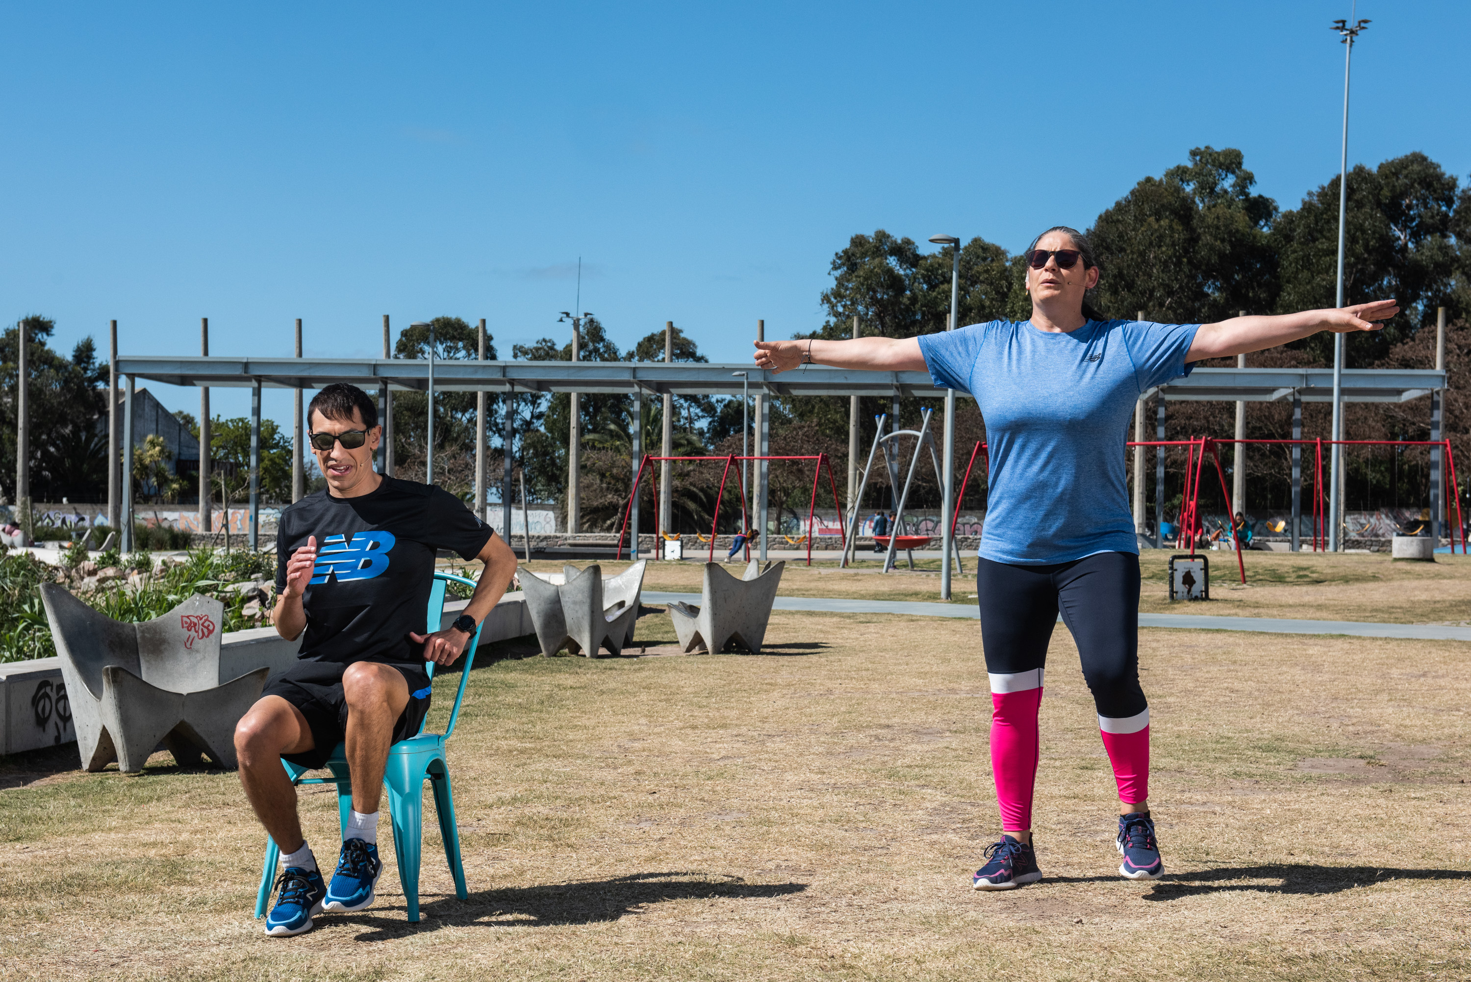
[[563, 646], [588, 658], [597, 658], [603, 648], [622, 654], [634, 640], [647, 565], [640, 559], [606, 580], [597, 564], [585, 570], [566, 565], [560, 576], [522, 568], [521, 589], [541, 654], [550, 657]]

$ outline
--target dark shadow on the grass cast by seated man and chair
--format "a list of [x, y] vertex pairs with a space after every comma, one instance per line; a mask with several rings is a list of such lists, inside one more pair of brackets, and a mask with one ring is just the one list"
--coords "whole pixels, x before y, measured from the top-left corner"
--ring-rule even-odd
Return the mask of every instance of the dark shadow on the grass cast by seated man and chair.
[[719, 897], [769, 900], [800, 894], [806, 888], [806, 883], [747, 883], [738, 876], [715, 877], [708, 873], [634, 873], [605, 880], [487, 889], [471, 894], [466, 900], [438, 897], [419, 904], [418, 923], [371, 913], [346, 914], [343, 920], [369, 929], [357, 935], [357, 941], [390, 941], [422, 930], [437, 930], [446, 925], [456, 928], [590, 925], [638, 914], [644, 907], [665, 901]]

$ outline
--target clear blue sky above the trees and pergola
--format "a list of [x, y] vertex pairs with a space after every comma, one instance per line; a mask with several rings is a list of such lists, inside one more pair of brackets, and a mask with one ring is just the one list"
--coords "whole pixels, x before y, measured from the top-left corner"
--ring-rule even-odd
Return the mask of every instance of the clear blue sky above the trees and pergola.
[[[1471, 4], [1365, 0], [1350, 162], [1471, 172]], [[1016, 250], [1190, 147], [1284, 208], [1339, 165], [1349, 3], [0, 4], [0, 319], [321, 356], [575, 302], [715, 361], [822, 319], [853, 233]], [[559, 333], [560, 331], [560, 333]], [[152, 386], [197, 411], [191, 390]], [[244, 390], [215, 411], [244, 414]], [[290, 417], [290, 396], [265, 409]]]

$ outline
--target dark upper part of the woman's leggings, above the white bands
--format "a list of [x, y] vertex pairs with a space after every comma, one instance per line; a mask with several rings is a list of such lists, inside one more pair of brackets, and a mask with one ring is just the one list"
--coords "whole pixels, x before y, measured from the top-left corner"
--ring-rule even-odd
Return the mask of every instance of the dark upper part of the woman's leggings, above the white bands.
[[1099, 552], [1047, 565], [981, 559], [975, 592], [989, 673], [1015, 674], [1046, 665], [1061, 610], [1078, 645], [1097, 714], [1125, 718], [1147, 708], [1139, 688], [1137, 555]]

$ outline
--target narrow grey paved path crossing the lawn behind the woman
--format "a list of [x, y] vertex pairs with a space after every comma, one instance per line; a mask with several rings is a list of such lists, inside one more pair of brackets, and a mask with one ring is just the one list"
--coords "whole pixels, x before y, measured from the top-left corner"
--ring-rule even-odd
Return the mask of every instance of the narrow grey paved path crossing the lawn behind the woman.
[[[699, 604], [699, 593], [643, 592], [646, 604], [684, 601]], [[925, 601], [856, 601], [822, 596], [778, 596], [778, 611], [822, 611], [830, 614], [919, 614], [921, 617], [961, 617], [980, 620], [971, 604], [936, 604]], [[1355, 637], [1414, 637], [1420, 640], [1471, 640], [1471, 627], [1440, 624], [1375, 624], [1372, 621], [1315, 621], [1277, 617], [1211, 617], [1208, 614], [1140, 614], [1140, 627], [1175, 627], [1197, 630], [1246, 630], [1271, 635], [1350, 635]]]

